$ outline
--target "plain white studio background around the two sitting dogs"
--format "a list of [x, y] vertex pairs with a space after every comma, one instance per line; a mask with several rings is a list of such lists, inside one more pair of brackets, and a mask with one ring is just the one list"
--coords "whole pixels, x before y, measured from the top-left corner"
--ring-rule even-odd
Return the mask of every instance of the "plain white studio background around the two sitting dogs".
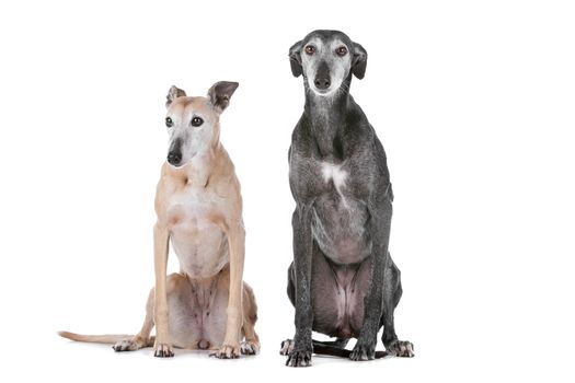
[[[574, 20], [570, 1], [2, 2], [1, 380], [573, 381]], [[389, 156], [411, 360], [295, 370], [278, 355], [294, 334], [287, 149], [303, 106], [287, 53], [315, 28], [369, 54], [352, 93]], [[219, 80], [240, 82], [221, 141], [261, 355], [161, 360], [57, 337], [139, 329], [164, 97]]]

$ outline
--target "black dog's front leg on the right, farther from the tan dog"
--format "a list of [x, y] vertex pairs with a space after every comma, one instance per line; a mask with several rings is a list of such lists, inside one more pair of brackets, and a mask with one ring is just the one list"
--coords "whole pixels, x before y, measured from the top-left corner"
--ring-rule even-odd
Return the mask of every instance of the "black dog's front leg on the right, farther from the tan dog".
[[359, 338], [349, 355], [352, 360], [370, 360], [376, 357], [377, 335], [383, 312], [384, 270], [389, 259], [388, 245], [392, 205], [389, 196], [377, 196], [368, 204], [372, 243], [369, 283], [364, 299], [364, 323]]

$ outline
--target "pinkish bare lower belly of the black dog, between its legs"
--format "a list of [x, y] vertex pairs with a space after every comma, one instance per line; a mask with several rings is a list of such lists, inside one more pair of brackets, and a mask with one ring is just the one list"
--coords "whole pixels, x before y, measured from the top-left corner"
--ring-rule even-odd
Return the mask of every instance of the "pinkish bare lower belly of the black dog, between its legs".
[[313, 262], [313, 330], [331, 337], [357, 338], [364, 323], [370, 260], [352, 266], [330, 265], [325, 258]]

